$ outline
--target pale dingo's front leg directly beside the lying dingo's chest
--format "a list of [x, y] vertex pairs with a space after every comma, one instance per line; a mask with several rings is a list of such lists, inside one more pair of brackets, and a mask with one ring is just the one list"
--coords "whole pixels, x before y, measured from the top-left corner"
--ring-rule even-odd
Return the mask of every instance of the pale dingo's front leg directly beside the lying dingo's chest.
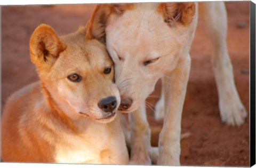
[[146, 116], [145, 102], [129, 114], [131, 124], [131, 165], [151, 165], [150, 129]]

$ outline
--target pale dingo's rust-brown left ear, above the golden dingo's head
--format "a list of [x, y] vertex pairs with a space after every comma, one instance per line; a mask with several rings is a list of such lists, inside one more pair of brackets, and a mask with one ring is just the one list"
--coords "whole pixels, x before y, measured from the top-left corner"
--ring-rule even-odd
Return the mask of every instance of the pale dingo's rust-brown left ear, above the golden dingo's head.
[[102, 4], [97, 5], [92, 13], [92, 17], [86, 25], [86, 38], [98, 39], [102, 43], [106, 43], [105, 29], [110, 14], [115, 16], [122, 15], [126, 10], [132, 9], [132, 4]]

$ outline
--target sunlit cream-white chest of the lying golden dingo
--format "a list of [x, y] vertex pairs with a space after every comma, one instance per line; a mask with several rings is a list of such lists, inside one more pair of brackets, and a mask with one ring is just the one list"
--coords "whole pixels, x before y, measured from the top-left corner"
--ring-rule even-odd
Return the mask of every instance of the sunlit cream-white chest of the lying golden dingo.
[[113, 134], [105, 124], [95, 123], [84, 133], [63, 137], [56, 147], [58, 163], [118, 163], [123, 161], [122, 153], [127, 150], [122, 132]]

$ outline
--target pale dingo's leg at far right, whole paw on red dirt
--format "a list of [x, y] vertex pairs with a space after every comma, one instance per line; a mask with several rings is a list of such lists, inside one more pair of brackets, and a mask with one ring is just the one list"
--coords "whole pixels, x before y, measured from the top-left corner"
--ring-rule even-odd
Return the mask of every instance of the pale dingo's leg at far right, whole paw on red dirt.
[[224, 2], [199, 3], [199, 12], [213, 46], [212, 66], [219, 95], [222, 122], [241, 125], [247, 116], [236, 90], [233, 68], [228, 55], [227, 13]]

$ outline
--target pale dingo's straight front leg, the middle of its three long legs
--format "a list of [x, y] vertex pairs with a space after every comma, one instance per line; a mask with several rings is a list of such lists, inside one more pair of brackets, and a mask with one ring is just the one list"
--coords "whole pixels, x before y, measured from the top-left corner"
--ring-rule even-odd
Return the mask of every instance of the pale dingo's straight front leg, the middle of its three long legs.
[[181, 114], [190, 70], [190, 56], [181, 57], [177, 67], [164, 77], [164, 125], [159, 135], [158, 165], [180, 165]]

